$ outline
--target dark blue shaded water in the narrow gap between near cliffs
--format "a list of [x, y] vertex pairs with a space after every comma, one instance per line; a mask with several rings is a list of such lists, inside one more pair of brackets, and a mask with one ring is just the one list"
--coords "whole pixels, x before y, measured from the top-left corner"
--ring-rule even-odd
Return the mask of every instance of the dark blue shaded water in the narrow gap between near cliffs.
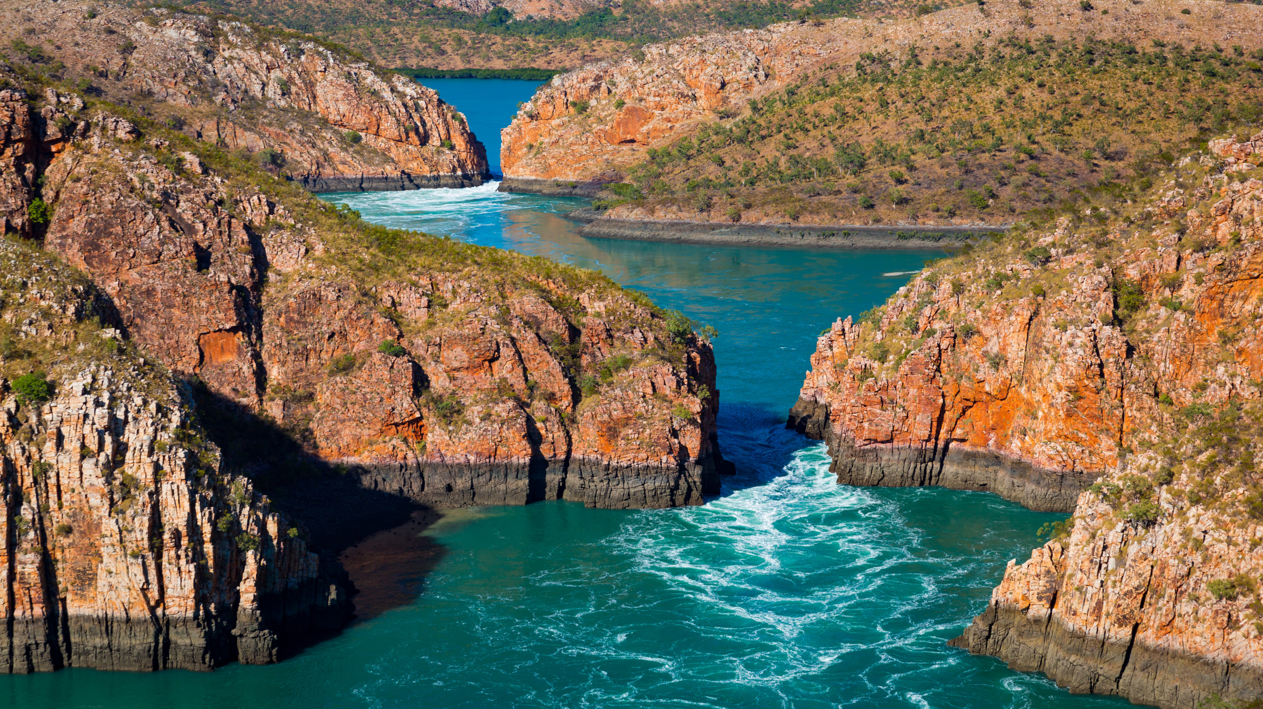
[[719, 497], [767, 484], [786, 474], [794, 454], [818, 445], [786, 430], [786, 415], [770, 403], [721, 403], [716, 417], [724, 458], [736, 465], [736, 475], [724, 476]]

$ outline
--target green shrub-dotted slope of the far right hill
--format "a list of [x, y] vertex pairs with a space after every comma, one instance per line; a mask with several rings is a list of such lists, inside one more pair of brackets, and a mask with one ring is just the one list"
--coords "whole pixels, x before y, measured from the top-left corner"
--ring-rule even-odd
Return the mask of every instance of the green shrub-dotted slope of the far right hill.
[[864, 54], [648, 150], [632, 202], [822, 224], [1041, 217], [1263, 120], [1263, 51], [1009, 38]]

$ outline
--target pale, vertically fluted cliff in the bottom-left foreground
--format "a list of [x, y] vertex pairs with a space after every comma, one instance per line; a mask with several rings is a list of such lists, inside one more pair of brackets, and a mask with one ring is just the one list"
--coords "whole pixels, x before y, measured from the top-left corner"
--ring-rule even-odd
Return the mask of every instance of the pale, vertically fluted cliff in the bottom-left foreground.
[[109, 300], [29, 245], [0, 264], [0, 671], [274, 662], [340, 627], [345, 581], [101, 326]]

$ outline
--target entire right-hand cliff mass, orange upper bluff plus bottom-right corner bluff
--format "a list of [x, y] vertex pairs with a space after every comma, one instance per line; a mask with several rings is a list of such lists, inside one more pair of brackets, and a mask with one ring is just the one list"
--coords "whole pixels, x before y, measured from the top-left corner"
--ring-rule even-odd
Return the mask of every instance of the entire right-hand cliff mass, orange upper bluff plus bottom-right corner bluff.
[[1260, 163], [1211, 140], [821, 335], [791, 426], [840, 483], [1074, 509], [957, 645], [1161, 706], [1263, 691]]

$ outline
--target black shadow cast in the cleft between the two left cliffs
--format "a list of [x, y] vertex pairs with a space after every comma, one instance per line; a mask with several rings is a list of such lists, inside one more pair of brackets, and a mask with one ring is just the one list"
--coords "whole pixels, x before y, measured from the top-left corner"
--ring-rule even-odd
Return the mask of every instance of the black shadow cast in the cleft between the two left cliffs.
[[[422, 535], [438, 519], [436, 511], [361, 487], [345, 468], [312, 456], [303, 446], [302, 430], [256, 416], [197, 379], [189, 387], [198, 420], [220, 447], [225, 470], [249, 476], [273, 508], [302, 523], [323, 564], [340, 564], [346, 571], [356, 621], [421, 595], [426, 576], [447, 552]], [[327, 637], [289, 647], [285, 655]]]

